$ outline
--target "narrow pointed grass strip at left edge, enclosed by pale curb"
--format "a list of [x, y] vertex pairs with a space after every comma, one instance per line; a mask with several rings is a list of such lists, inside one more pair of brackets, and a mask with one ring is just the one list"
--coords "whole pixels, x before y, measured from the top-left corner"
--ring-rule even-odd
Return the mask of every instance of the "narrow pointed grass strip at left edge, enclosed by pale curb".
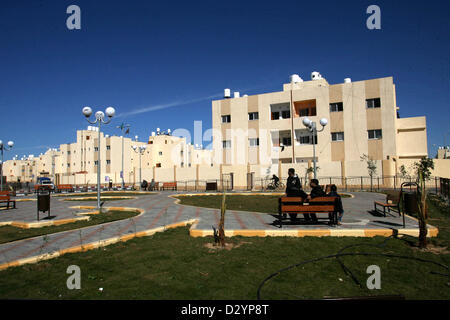
[[0, 227], [0, 243], [36, 237], [44, 234], [79, 229], [116, 220], [128, 219], [138, 214], [139, 213], [135, 211], [107, 211], [100, 214], [90, 215], [91, 219], [89, 219], [89, 221], [77, 221], [59, 226], [30, 229], [22, 229], [13, 226], [2, 226]]

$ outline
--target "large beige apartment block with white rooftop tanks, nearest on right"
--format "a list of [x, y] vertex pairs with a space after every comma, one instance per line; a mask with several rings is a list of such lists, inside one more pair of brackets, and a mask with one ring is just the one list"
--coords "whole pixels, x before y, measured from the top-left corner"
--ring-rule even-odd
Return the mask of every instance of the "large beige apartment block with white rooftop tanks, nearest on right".
[[[426, 119], [399, 117], [392, 77], [329, 84], [314, 72], [311, 81], [291, 76], [279, 92], [231, 98], [225, 91], [224, 99], [212, 102], [215, 159], [224, 165], [271, 166], [276, 172], [280, 163], [311, 163], [313, 141], [327, 175], [367, 175], [363, 155], [381, 162], [428, 154]], [[305, 117], [316, 122], [315, 137], [303, 125]], [[322, 118], [328, 121], [323, 128]]]

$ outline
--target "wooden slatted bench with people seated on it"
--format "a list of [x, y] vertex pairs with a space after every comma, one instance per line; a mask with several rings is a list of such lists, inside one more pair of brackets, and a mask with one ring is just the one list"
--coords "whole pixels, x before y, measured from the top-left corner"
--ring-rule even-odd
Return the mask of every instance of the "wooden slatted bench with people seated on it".
[[[280, 228], [287, 214], [322, 214], [326, 213], [326, 219], [332, 225], [337, 220], [337, 197], [317, 197], [311, 200], [300, 197], [281, 197], [278, 200], [278, 223]], [[276, 223], [275, 223], [276, 224]]]

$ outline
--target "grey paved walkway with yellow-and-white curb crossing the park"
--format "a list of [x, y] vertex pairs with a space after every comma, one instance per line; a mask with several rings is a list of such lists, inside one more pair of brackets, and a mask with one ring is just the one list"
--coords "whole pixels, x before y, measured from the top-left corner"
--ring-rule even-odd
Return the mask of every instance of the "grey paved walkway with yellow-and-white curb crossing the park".
[[[77, 252], [104, 246], [110, 243], [125, 241], [135, 236], [151, 235], [166, 228], [194, 223], [191, 227], [192, 236], [212, 235], [212, 226], [217, 227], [220, 210], [176, 203], [170, 195], [177, 192], [161, 192], [159, 194], [138, 196], [136, 199], [106, 202], [105, 207], [134, 207], [143, 209], [140, 215], [121, 221], [65, 231], [46, 236], [5, 243], [0, 245], [0, 270], [10, 266], [36, 262], [67, 252]], [[406, 218], [406, 230], [403, 229], [402, 219], [395, 213], [393, 216], [383, 217], [374, 215], [374, 200], [383, 200], [384, 195], [375, 193], [354, 193], [354, 198], [343, 198], [345, 215], [342, 226], [328, 225], [286, 225], [280, 229], [272, 223], [275, 220], [270, 214], [256, 212], [227, 211], [225, 230], [227, 236], [232, 235], [389, 235], [393, 229], [402, 233], [418, 232], [418, 225], [414, 219]], [[72, 206], [95, 206], [92, 201], [62, 201], [52, 198], [50, 220], [67, 219], [77, 216], [85, 210], [70, 208]], [[0, 211], [0, 223], [16, 220], [36, 221], [36, 202], [18, 202], [18, 209]], [[45, 215], [42, 215], [44, 217]], [[368, 233], [367, 230], [381, 233]], [[361, 233], [362, 232], [362, 233]]]

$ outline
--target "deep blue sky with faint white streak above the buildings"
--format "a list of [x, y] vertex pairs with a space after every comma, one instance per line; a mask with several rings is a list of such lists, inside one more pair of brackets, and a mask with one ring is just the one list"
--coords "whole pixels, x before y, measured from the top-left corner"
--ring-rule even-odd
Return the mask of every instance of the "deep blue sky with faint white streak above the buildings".
[[[66, 27], [71, 4], [81, 30]], [[366, 28], [371, 4], [381, 30]], [[448, 0], [2, 0], [0, 140], [16, 143], [5, 159], [74, 142], [85, 105], [115, 107], [105, 132], [125, 121], [146, 141], [156, 127], [210, 128], [224, 88], [281, 91], [312, 71], [330, 84], [393, 76], [401, 117], [427, 117], [434, 157], [450, 132], [449, 14]]]

